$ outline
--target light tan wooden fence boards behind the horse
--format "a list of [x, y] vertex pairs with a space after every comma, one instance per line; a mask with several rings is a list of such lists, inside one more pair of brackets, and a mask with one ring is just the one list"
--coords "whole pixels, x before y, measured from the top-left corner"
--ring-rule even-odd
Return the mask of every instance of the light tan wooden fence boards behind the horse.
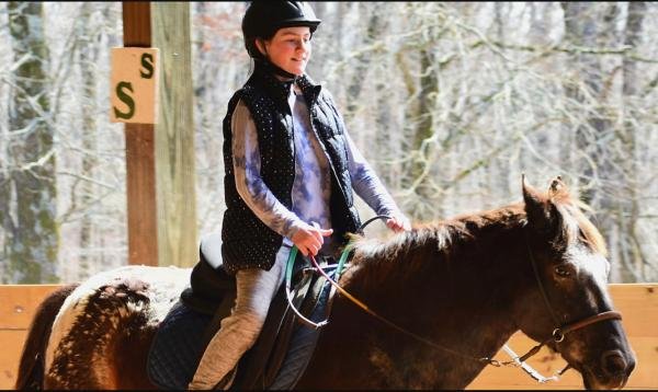
[[[32, 315], [56, 285], [0, 286], [0, 390], [12, 389], [23, 341]], [[624, 328], [637, 356], [635, 371], [626, 389], [658, 390], [658, 284], [610, 285], [615, 308], [622, 312]], [[518, 354], [534, 342], [518, 333], [508, 342]], [[497, 359], [509, 359], [498, 353]], [[529, 364], [545, 377], [565, 366], [565, 361], [543, 348]], [[567, 371], [559, 381], [540, 384], [517, 368], [488, 367], [467, 389], [582, 389], [580, 376]]]

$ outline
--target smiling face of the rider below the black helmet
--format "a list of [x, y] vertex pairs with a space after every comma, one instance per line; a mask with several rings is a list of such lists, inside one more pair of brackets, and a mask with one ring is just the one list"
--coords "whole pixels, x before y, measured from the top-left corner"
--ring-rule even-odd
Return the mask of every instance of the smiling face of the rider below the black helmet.
[[310, 30], [305, 26], [284, 27], [269, 39], [257, 39], [256, 44], [275, 66], [300, 76], [310, 59]]

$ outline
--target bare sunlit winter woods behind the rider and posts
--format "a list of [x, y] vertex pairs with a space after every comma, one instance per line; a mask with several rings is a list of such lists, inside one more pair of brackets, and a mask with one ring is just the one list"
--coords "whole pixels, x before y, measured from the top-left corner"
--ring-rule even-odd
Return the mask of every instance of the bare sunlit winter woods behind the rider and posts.
[[[198, 234], [222, 227], [246, 4], [190, 3]], [[658, 3], [311, 4], [307, 71], [415, 222], [559, 174], [592, 207], [610, 280], [658, 280]], [[0, 3], [0, 284], [127, 264], [124, 125], [109, 115], [122, 31], [121, 2]]]

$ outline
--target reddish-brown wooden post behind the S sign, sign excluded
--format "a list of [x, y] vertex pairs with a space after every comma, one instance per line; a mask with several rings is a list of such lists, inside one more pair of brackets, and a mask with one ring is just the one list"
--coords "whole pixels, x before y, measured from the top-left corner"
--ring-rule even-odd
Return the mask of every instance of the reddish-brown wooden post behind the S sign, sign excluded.
[[[124, 1], [124, 46], [150, 47], [150, 2]], [[152, 124], [125, 124], [128, 264], [158, 265]]]

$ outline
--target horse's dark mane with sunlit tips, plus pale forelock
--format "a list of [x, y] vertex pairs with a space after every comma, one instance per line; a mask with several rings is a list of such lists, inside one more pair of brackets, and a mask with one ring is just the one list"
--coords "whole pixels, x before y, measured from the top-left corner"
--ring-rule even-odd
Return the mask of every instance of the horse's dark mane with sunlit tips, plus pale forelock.
[[[591, 211], [585, 203], [571, 198], [566, 189], [544, 195], [544, 201], [555, 206], [559, 212], [560, 237], [567, 243], [581, 241], [593, 252], [606, 255], [603, 237], [582, 212], [582, 210]], [[517, 203], [498, 209], [418, 224], [411, 231], [392, 235], [385, 241], [352, 235], [351, 242], [355, 252], [351, 263], [354, 266], [367, 264], [368, 267], [375, 267], [368, 269], [377, 270], [378, 281], [386, 279], [393, 273], [399, 273], [397, 262], [405, 263], [402, 269], [405, 275], [413, 275], [424, 267], [423, 260], [428, 257], [418, 254], [413, 257], [410, 256], [411, 253], [434, 252], [434, 255], [444, 257], [434, 256], [432, 260], [441, 258], [446, 263], [451, 262], [452, 252], [473, 244], [484, 232], [504, 231], [525, 224], [527, 224], [527, 216], [524, 204]], [[351, 274], [345, 275], [349, 280]]]

